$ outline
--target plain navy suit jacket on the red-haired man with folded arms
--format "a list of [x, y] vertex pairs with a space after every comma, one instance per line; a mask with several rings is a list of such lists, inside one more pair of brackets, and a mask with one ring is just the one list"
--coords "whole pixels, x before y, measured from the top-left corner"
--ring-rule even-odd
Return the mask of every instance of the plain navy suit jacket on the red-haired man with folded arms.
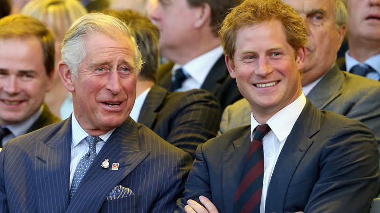
[[[220, 213], [231, 213], [249, 145], [250, 125], [200, 145], [177, 211], [205, 195]], [[265, 213], [366, 213], [377, 191], [378, 159], [367, 126], [307, 99], [275, 165]]]

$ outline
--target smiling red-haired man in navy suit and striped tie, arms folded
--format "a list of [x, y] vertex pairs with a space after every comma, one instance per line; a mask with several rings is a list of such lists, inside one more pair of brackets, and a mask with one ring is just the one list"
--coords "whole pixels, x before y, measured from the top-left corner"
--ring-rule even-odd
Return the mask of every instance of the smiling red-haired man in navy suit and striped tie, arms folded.
[[251, 123], [198, 147], [179, 212], [368, 212], [379, 177], [375, 137], [305, 97], [302, 23], [281, 0], [245, 0], [223, 21], [228, 71]]

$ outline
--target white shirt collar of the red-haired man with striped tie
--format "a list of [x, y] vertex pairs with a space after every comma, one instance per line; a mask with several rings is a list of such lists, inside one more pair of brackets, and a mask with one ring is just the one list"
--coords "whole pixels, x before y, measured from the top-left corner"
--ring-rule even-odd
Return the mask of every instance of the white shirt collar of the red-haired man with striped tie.
[[[305, 104], [306, 96], [304, 95], [304, 92], [302, 92], [300, 97], [278, 111], [266, 122], [280, 142], [284, 141], [289, 136], [294, 124], [304, 109]], [[253, 130], [258, 125], [260, 124], [251, 113], [251, 140], [253, 139]]]

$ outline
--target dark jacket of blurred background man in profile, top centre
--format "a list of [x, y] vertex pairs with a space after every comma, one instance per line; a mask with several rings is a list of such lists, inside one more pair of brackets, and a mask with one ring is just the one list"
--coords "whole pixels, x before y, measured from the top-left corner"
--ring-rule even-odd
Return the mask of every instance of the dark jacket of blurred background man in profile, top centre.
[[[174, 63], [169, 62], [161, 65], [157, 71], [158, 85], [168, 90], [171, 88], [173, 66]], [[214, 94], [223, 109], [243, 98], [237, 88], [236, 80], [229, 75], [224, 55], [213, 65], [200, 89], [206, 89]]]

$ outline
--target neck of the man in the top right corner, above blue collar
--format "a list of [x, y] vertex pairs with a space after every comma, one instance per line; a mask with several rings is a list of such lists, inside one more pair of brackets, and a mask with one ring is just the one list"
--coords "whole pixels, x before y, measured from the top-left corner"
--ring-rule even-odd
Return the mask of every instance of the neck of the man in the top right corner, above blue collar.
[[350, 56], [361, 63], [380, 53], [380, 41], [356, 39], [348, 36], [348, 49]]

